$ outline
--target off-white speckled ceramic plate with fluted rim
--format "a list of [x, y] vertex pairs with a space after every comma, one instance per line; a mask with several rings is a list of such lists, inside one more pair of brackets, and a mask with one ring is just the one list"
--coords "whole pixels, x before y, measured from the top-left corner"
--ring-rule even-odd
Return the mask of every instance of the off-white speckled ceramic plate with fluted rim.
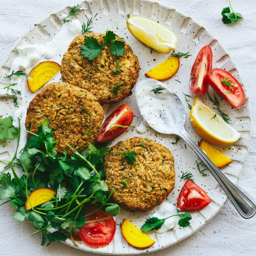
[[[191, 67], [198, 51], [204, 45], [210, 45], [213, 51], [213, 68], [226, 69], [227, 71], [231, 72], [243, 86], [241, 77], [238, 74], [235, 64], [230, 59], [227, 51], [219, 44], [218, 40], [215, 39], [215, 37], [204, 27], [197, 24], [193, 19], [180, 13], [174, 8], [144, 0], [91, 0], [84, 1], [78, 6], [85, 8], [81, 10], [80, 15], [77, 16], [81, 22], [86, 21], [85, 15], [91, 17], [98, 13], [94, 20], [93, 26], [93, 30], [95, 32], [104, 33], [106, 29], [109, 29], [116, 32], [117, 35], [125, 38], [125, 41], [132, 47], [134, 53], [139, 58], [141, 70], [138, 80], [145, 78], [144, 73], [164, 61], [167, 58], [167, 55], [157, 52], [152, 52], [152, 54], [150, 54], [150, 49], [138, 42], [127, 30], [125, 15], [130, 13], [131, 15], [147, 17], [159, 21], [159, 23], [174, 31], [178, 37], [177, 51], [189, 51], [192, 56], [187, 59], [180, 59], [180, 68], [178, 72], [173, 78], [165, 80], [164, 83], [174, 90], [183, 101], [187, 116], [185, 128], [195, 141], [200, 140], [200, 138], [195, 133], [189, 121], [189, 109], [186, 107], [185, 98], [182, 92], [189, 94], [192, 97], [195, 96], [191, 94], [188, 85]], [[61, 15], [67, 15], [70, 9], [70, 7], [67, 7], [60, 11], [54, 12], [49, 17], [46, 17], [41, 22], [33, 26], [29, 33], [20, 38], [20, 40], [13, 47], [13, 50], [10, 52], [8, 59], [3, 64], [0, 73], [2, 80], [3, 75], [9, 71], [12, 60], [17, 55], [15, 50], [16, 46], [29, 43], [43, 43], [51, 40], [54, 34], [62, 27], [60, 22]], [[179, 80], [181, 83], [175, 79]], [[0, 85], [0, 87], [2, 86]], [[210, 88], [210, 94], [212, 93], [213, 91]], [[199, 97], [205, 104], [209, 105], [211, 108], [213, 107], [212, 103], [207, 99], [207, 96], [200, 95]], [[122, 103], [128, 104], [133, 110], [133, 125], [139, 125], [143, 119], [139, 113], [134, 94], [120, 103], [111, 106], [105, 105], [105, 116], [108, 116], [112, 111], [114, 111], [114, 109], [116, 109], [117, 106], [120, 106]], [[193, 100], [191, 100], [191, 104], [193, 104]], [[12, 114], [14, 110], [12, 105], [12, 98], [1, 98], [1, 115]], [[236, 184], [248, 153], [250, 141], [250, 112], [248, 107], [248, 98], [246, 97], [245, 104], [238, 109], [231, 109], [231, 107], [224, 101], [220, 101], [220, 105], [221, 108], [225, 109], [231, 117], [233, 127], [242, 134], [241, 139], [235, 144], [228, 147], [217, 147], [221, 152], [233, 160], [231, 164], [222, 168], [222, 171], [231, 180], [231, 182]], [[136, 133], [135, 129], [128, 129], [124, 134], [118, 137], [113, 144], [138, 135], [139, 134]], [[198, 159], [195, 153], [192, 152], [189, 147], [186, 147], [182, 139], [179, 140], [177, 144], [173, 145], [171, 142], [175, 141], [175, 135], [159, 134], [150, 128], [148, 128], [148, 131], [141, 136], [160, 142], [169, 148], [173, 153], [175, 158], [176, 183], [175, 188], [168, 196], [167, 201], [176, 203], [180, 188], [184, 184], [184, 180], [180, 180], [179, 177], [183, 171], [189, 171], [193, 173], [196, 184], [201, 186], [208, 193], [212, 199], [212, 203], [203, 210], [192, 213], [193, 218], [189, 227], [179, 229], [179, 227], [176, 226], [176, 228], [169, 230], [164, 234], [158, 234], [155, 232], [150, 233], [150, 237], [156, 242], [149, 248], [137, 249], [130, 246], [122, 237], [121, 230], [117, 226], [114, 240], [108, 246], [95, 248], [87, 246], [83, 242], [79, 242], [78, 249], [90, 251], [92, 253], [120, 255], [132, 255], [157, 251], [191, 236], [194, 232], [202, 228], [205, 223], [207, 223], [215, 214], [217, 214], [226, 202], [226, 194], [222, 192], [220, 186], [211, 176], [211, 174], [206, 171], [207, 176], [203, 177], [199, 173], [195, 163], [195, 161]], [[2, 142], [1, 144], [5, 145], [5, 148], [0, 147], [1, 158], [9, 158], [9, 156], [12, 155], [16, 141], [11, 141], [8, 143]], [[150, 212], [131, 213], [122, 210], [116, 217], [116, 222], [119, 223], [124, 218], [127, 218], [137, 227], [141, 227], [149, 214]], [[33, 237], [31, 239], [33, 239]], [[71, 240], [69, 239], [66, 240], [65, 243], [73, 246]]]

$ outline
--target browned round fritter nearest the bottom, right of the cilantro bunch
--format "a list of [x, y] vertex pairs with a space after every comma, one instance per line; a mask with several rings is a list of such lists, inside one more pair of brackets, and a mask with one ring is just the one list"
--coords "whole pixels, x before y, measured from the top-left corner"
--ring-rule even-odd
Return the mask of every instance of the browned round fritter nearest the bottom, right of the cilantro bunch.
[[[116, 153], [127, 150], [135, 151], [137, 164], [132, 167], [122, 159], [122, 154]], [[104, 171], [109, 192], [114, 189], [112, 199], [131, 212], [153, 209], [165, 200], [175, 185], [173, 155], [148, 138], [134, 137], [118, 142], [104, 159]]]

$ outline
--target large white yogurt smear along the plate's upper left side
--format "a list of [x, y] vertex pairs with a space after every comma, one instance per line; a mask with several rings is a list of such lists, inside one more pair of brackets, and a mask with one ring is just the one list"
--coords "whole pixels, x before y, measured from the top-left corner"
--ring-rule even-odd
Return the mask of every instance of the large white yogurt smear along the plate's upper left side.
[[[18, 56], [12, 62], [10, 73], [12, 70], [14, 70], [14, 72], [22, 70], [28, 74], [37, 64], [43, 61], [54, 61], [61, 64], [63, 54], [67, 51], [69, 44], [74, 37], [80, 35], [80, 33], [80, 21], [75, 19], [72, 22], [63, 24], [60, 31], [56, 33], [54, 38], [48, 43], [29, 44], [17, 47]], [[50, 81], [45, 83], [43, 87], [51, 82], [58, 82], [60, 80], [61, 74], [58, 73]], [[19, 152], [25, 147], [27, 141], [27, 134], [24, 129], [28, 105], [36, 94], [43, 89], [43, 87], [41, 87], [35, 93], [32, 93], [28, 89], [26, 77], [12, 76], [10, 82], [17, 83], [17, 85], [13, 86], [12, 88], [18, 91], [16, 96], [18, 98], [17, 102], [19, 108], [14, 113], [13, 125], [18, 127], [19, 117], [21, 125], [20, 143], [17, 154], [17, 157], [19, 157]], [[0, 96], [6, 96], [6, 92], [6, 90], [0, 90]]]

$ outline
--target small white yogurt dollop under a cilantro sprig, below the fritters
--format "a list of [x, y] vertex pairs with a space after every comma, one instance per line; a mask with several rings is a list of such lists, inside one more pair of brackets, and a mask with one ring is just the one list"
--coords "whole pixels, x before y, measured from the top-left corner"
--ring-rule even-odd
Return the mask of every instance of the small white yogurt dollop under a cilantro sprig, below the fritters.
[[[154, 212], [150, 216], [150, 218], [157, 217], [158, 219], [164, 219], [171, 215], [176, 215], [176, 214], [177, 214], [177, 207], [171, 203], [164, 202], [154, 208]], [[156, 230], [156, 232], [159, 234], [162, 234], [162, 233], [165, 233], [167, 230], [174, 228], [177, 225], [179, 219], [180, 219], [179, 216], [173, 216], [165, 220], [162, 227]]]

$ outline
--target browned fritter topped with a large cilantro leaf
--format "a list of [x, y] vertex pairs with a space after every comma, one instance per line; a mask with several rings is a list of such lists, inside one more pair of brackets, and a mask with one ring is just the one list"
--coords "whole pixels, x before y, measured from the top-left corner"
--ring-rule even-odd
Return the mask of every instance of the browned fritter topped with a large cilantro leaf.
[[[75, 37], [61, 61], [62, 80], [88, 90], [101, 105], [112, 104], [131, 95], [140, 70], [138, 58], [128, 44], [125, 44], [125, 54], [120, 57], [112, 54], [111, 46], [101, 50], [100, 55], [92, 61], [81, 54], [80, 47], [85, 37], [95, 37], [100, 45], [104, 45], [104, 36], [105, 34], [88, 33]], [[112, 72], [116, 70], [116, 58], [123, 71], [121, 73]], [[120, 86], [118, 94], [113, 93], [114, 86], [123, 82], [125, 83]]]

